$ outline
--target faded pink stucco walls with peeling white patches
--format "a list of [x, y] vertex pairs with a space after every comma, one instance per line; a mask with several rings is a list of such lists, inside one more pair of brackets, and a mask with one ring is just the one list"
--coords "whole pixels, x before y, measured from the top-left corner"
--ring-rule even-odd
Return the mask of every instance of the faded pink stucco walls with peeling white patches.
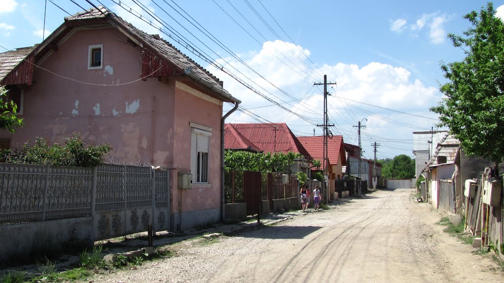
[[[125, 44], [127, 38], [112, 28], [81, 30], [59, 46], [37, 68], [36, 83], [24, 90], [25, 121], [11, 137], [11, 145], [35, 137], [51, 142], [80, 132], [113, 151], [107, 162], [161, 165], [172, 170], [172, 212], [220, 207], [220, 118], [222, 106], [175, 88], [175, 79], [137, 81], [142, 48]], [[88, 70], [88, 46], [103, 44], [103, 69]], [[105, 87], [92, 84], [124, 84]], [[212, 127], [209, 184], [194, 185], [180, 199], [177, 172], [191, 168], [190, 122]], [[180, 202], [181, 200], [181, 202]]]

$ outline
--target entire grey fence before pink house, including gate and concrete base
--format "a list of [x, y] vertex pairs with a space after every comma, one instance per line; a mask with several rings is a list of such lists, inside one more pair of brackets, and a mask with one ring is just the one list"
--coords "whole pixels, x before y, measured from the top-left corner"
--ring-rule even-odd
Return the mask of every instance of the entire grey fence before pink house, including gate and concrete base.
[[170, 226], [169, 174], [0, 163], [0, 262]]

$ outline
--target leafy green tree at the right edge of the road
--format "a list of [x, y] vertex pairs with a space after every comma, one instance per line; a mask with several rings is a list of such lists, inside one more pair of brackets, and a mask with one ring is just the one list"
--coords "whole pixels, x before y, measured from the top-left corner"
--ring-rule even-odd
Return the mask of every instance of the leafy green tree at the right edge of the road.
[[446, 97], [430, 110], [439, 114], [438, 125], [448, 126], [460, 140], [464, 153], [497, 165], [504, 156], [504, 24], [491, 3], [464, 19], [472, 27], [464, 36], [448, 37], [465, 51], [465, 58], [442, 62], [449, 82], [440, 91]]

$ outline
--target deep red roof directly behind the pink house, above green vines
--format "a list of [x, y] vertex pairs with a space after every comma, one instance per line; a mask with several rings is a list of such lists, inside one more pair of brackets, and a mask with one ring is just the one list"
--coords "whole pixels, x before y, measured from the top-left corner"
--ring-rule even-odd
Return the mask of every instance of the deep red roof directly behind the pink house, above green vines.
[[300, 153], [311, 159], [286, 123], [246, 123], [224, 126], [224, 148], [269, 153]]

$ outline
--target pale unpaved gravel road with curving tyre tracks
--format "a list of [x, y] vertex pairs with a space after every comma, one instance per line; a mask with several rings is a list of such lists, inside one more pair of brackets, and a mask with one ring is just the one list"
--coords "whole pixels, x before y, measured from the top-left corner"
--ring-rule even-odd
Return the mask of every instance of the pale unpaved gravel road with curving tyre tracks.
[[95, 282], [503, 282], [411, 189], [379, 190]]

